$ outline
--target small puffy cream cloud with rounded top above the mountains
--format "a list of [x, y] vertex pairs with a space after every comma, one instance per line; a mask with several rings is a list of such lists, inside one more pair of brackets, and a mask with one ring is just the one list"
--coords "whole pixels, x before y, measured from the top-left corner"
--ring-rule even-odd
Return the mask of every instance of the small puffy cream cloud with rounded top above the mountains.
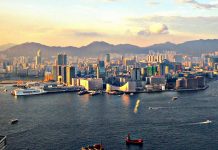
[[147, 29], [141, 30], [138, 32], [138, 35], [160, 35], [160, 34], [168, 34], [169, 29], [165, 24], [162, 23], [154, 23], [151, 24]]

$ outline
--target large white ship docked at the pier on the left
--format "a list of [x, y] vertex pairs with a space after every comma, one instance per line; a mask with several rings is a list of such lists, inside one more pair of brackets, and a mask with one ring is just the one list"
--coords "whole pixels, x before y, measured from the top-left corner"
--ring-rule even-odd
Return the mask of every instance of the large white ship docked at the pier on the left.
[[11, 92], [14, 96], [28, 96], [28, 95], [40, 95], [47, 93], [41, 88], [26, 88], [26, 89], [15, 89]]

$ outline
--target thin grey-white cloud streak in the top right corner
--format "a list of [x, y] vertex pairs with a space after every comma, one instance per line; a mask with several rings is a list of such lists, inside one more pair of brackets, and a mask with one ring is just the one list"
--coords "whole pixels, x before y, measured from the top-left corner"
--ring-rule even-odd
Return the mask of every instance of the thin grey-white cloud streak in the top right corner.
[[203, 8], [203, 9], [218, 8], [218, 4], [201, 3], [201, 2], [198, 2], [197, 0], [176, 0], [176, 1], [180, 3], [191, 4], [196, 8]]

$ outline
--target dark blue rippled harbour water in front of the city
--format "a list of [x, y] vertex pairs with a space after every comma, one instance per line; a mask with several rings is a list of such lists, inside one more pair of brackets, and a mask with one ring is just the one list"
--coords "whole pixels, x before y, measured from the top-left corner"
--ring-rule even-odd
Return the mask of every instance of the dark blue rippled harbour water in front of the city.
[[[0, 135], [7, 135], [8, 150], [79, 150], [100, 142], [107, 150], [217, 149], [218, 81], [209, 86], [204, 91], [132, 96], [60, 93], [15, 98], [1, 93]], [[178, 99], [172, 101], [174, 96]], [[19, 123], [11, 125], [14, 118]], [[128, 133], [143, 138], [144, 145], [127, 147]]]

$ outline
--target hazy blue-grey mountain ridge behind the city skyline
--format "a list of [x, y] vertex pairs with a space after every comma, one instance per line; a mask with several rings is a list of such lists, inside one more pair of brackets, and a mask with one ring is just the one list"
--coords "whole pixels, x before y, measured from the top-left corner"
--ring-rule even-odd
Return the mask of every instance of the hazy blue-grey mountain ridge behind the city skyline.
[[146, 54], [152, 51], [177, 51], [178, 53], [199, 56], [204, 52], [213, 52], [218, 50], [218, 39], [200, 39], [186, 41], [180, 44], [165, 42], [160, 44], [153, 44], [147, 47], [140, 47], [131, 44], [110, 44], [105, 41], [93, 41], [88, 45], [75, 47], [75, 46], [47, 46], [36, 42], [26, 42], [14, 45], [1, 51], [8, 57], [17, 56], [30, 56], [36, 55], [38, 49], [41, 49], [45, 57], [54, 56], [57, 53], [66, 53], [72, 56], [97, 56], [106, 53], [119, 53], [119, 54]]

